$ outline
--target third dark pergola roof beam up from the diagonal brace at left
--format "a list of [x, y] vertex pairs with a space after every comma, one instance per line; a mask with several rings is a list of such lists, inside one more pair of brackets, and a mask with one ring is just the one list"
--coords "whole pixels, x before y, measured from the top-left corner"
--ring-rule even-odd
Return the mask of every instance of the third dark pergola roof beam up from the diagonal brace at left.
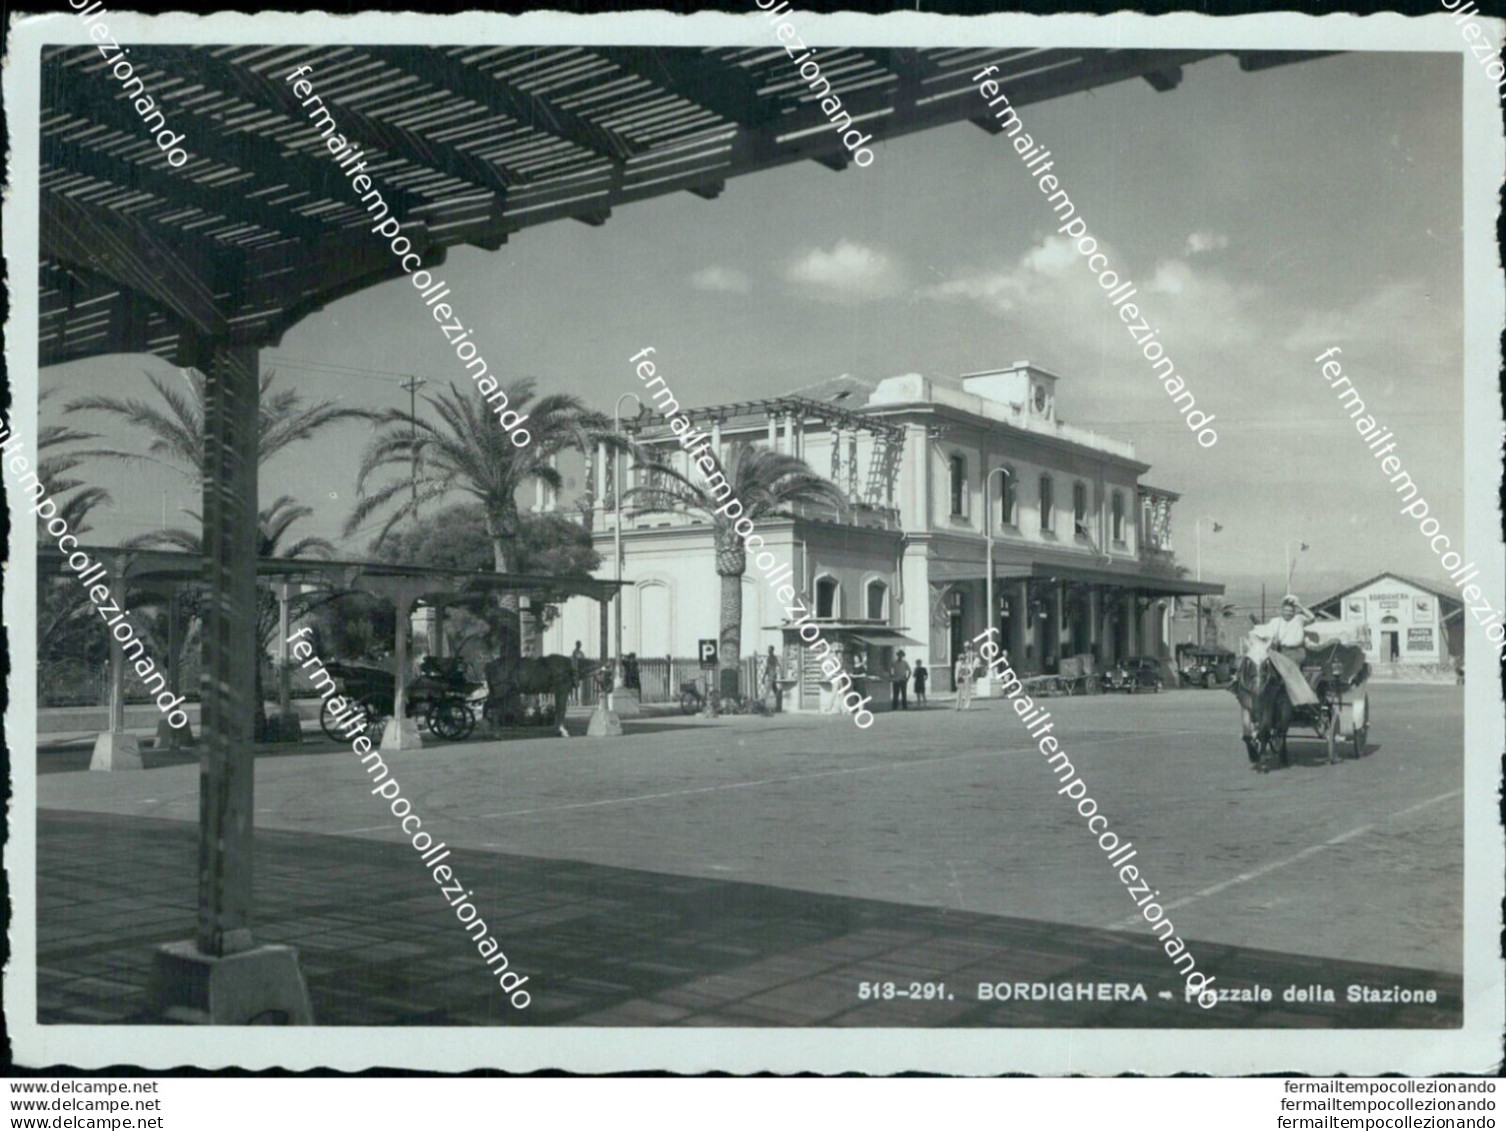
[[[170, 69], [185, 54], [179, 47], [146, 45], [134, 47], [131, 53], [133, 57], [164, 71]], [[235, 95], [264, 110], [288, 114], [294, 120], [307, 125], [312, 134], [333, 136], [319, 128], [333, 119], [334, 131], [349, 140], [357, 149], [375, 148], [392, 157], [402, 158], [419, 169], [437, 170], [446, 176], [453, 176], [456, 181], [485, 188], [498, 196], [506, 194], [508, 188], [521, 182], [521, 178], [509, 175], [473, 154], [467, 154], [443, 142], [420, 137], [411, 130], [404, 130], [390, 122], [381, 122], [354, 107], [339, 105], [333, 101], [327, 102], [321, 96], [319, 105], [309, 110], [294, 90], [294, 84], [285, 81], [286, 75], [268, 78], [259, 71], [236, 66], [223, 57], [199, 51], [191, 53], [190, 60], [188, 66], [205, 86]], [[178, 62], [178, 66], [182, 69], [184, 63]], [[289, 68], [289, 71], [292, 69], [295, 68]], [[318, 83], [318, 71], [313, 72], [310, 81]], [[321, 107], [325, 111], [324, 116], [319, 113]], [[310, 114], [318, 116], [318, 123], [310, 119]], [[330, 154], [330, 160], [334, 160], [333, 154]]]

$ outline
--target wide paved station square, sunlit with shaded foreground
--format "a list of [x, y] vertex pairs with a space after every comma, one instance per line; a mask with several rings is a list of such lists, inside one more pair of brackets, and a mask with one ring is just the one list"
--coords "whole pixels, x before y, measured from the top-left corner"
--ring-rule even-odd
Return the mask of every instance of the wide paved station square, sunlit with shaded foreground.
[[[325, 1024], [1456, 1024], [1461, 694], [1372, 705], [1364, 759], [1294, 738], [1297, 765], [1262, 776], [1224, 693], [1047, 703], [1199, 968], [1274, 989], [1267, 1006], [1160, 998], [1169, 959], [1001, 703], [866, 733], [648, 720], [389, 758], [533, 976], [521, 1015], [348, 750], [259, 758], [256, 935], [300, 947]], [[196, 767], [38, 786], [41, 1017], [136, 1017], [152, 946], [191, 934]], [[1149, 1000], [977, 1000], [1063, 980]], [[864, 1001], [860, 982], [946, 998]], [[1336, 1004], [1282, 1000], [1315, 983]], [[1351, 983], [1440, 1001], [1348, 1004]]]

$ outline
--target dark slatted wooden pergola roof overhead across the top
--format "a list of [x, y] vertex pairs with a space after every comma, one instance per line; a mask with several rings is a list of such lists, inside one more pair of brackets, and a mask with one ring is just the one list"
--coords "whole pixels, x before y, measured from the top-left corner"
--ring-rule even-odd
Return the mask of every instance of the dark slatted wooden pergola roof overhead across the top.
[[[876, 142], [973, 119], [994, 63], [1017, 105], [1143, 78], [1157, 90], [1218, 51], [822, 48], [822, 74]], [[1301, 53], [1233, 53], [1259, 69]], [[402, 274], [285, 81], [309, 81], [432, 270], [551, 220], [792, 161], [849, 154], [770, 36], [753, 48], [154, 47], [130, 60], [169, 128], [151, 139], [93, 47], [44, 51], [41, 364], [194, 342], [274, 345], [324, 304]], [[848, 173], [852, 176], [854, 173]]]

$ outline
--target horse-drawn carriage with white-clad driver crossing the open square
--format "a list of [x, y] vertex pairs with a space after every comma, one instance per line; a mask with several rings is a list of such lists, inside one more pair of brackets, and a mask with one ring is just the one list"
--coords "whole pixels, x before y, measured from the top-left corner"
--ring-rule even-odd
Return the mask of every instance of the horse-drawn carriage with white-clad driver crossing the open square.
[[1328, 622], [1309, 625], [1306, 652], [1301, 672], [1318, 702], [1303, 705], [1292, 703], [1264, 642], [1247, 640], [1239, 657], [1230, 690], [1242, 709], [1245, 751], [1262, 773], [1273, 759], [1291, 765], [1286, 735], [1292, 726], [1312, 727], [1328, 747], [1328, 765], [1339, 761], [1340, 744], [1351, 745], [1355, 758], [1364, 756], [1370, 666], [1354, 630]]

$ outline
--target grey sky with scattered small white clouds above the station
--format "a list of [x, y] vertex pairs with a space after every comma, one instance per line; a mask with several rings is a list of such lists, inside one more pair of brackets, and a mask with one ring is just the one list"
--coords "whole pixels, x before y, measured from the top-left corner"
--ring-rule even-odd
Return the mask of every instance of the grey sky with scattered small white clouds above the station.
[[[1006, 137], [958, 123], [876, 145], [836, 173], [803, 163], [562, 221], [500, 252], [452, 248], [437, 277], [494, 372], [611, 413], [657, 349], [682, 405], [777, 396], [840, 373], [952, 376], [1030, 360], [1062, 375], [1060, 419], [1133, 440], [1142, 482], [1182, 494], [1179, 557], [1239, 601], [1280, 595], [1285, 547], [1307, 601], [1383, 571], [1444, 581], [1315, 357], [1339, 346], [1444, 532], [1464, 538], [1459, 56], [1343, 54], [1253, 74], [1230, 59], [1024, 107], [1053, 173], [1200, 410], [1203, 449], [1152, 378]], [[1489, 233], [1482, 233], [1488, 238]], [[375, 236], [373, 236], [375, 238]], [[262, 354], [307, 398], [407, 407], [398, 383], [468, 384], [405, 280], [334, 303]], [[42, 389], [146, 395], [151, 357], [54, 366]], [[631, 411], [631, 404], [628, 405]], [[113, 444], [107, 420], [77, 423]], [[369, 428], [342, 425], [265, 470], [262, 500], [340, 527]], [[158, 468], [96, 465], [116, 492], [93, 539], [184, 521], [196, 491]], [[571, 492], [566, 492], [569, 497]], [[532, 501], [532, 500], [524, 500]], [[1217, 521], [1221, 530], [1211, 532]]]

